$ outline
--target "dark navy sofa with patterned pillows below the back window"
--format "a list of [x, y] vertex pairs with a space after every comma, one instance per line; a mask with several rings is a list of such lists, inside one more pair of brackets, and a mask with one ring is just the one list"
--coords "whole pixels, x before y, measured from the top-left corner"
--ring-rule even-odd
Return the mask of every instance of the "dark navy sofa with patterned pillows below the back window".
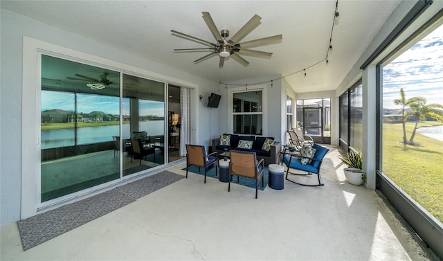
[[[280, 141], [275, 141], [273, 145], [271, 145], [271, 150], [266, 152], [266, 150], [262, 150], [262, 146], [266, 138], [270, 138], [273, 140], [273, 137], [262, 137], [262, 136], [242, 136], [237, 134], [224, 134], [230, 135], [230, 145], [220, 145], [220, 138], [213, 139], [213, 152], [217, 151], [219, 154], [224, 152], [224, 149], [228, 150], [242, 150], [246, 152], [255, 152], [257, 155], [257, 160], [264, 160], [264, 165], [269, 164], [278, 164], [278, 158], [280, 151], [282, 150], [282, 143]], [[253, 141], [253, 145], [251, 149], [242, 149], [237, 147], [240, 140], [244, 141]]]

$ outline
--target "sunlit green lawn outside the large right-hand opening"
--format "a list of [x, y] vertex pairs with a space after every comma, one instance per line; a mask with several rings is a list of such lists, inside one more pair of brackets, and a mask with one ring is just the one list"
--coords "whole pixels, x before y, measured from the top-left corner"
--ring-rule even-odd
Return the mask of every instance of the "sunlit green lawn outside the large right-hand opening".
[[[419, 123], [432, 126], [436, 122]], [[406, 123], [408, 140], [415, 123]], [[443, 141], [416, 132], [420, 146], [406, 145], [401, 123], [383, 124], [383, 173], [443, 222]]]

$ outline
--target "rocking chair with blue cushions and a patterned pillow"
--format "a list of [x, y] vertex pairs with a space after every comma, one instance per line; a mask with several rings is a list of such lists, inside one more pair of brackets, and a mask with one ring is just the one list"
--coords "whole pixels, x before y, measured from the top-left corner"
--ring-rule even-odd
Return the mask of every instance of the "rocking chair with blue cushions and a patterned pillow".
[[[321, 183], [320, 181], [320, 167], [321, 163], [323, 163], [323, 158], [325, 157], [326, 153], [329, 151], [327, 147], [320, 146], [316, 143], [312, 145], [312, 148], [316, 149], [316, 152], [312, 158], [306, 157], [306, 156], [300, 156], [299, 154], [285, 154], [283, 156], [282, 165], [287, 166], [286, 171], [286, 180], [291, 181], [292, 183], [296, 183], [298, 185], [302, 186], [310, 186], [310, 187], [316, 187], [316, 186], [323, 186], [325, 184]], [[309, 159], [310, 162], [306, 164], [302, 164], [301, 159]], [[289, 172], [289, 169], [293, 170], [301, 170], [303, 172], [307, 173], [295, 173], [295, 172]], [[288, 174], [294, 174], [294, 175], [300, 175], [300, 176], [307, 176], [311, 174], [317, 174], [318, 177], [318, 184], [303, 184], [298, 183], [296, 181], [292, 181], [291, 179], [288, 179]]]

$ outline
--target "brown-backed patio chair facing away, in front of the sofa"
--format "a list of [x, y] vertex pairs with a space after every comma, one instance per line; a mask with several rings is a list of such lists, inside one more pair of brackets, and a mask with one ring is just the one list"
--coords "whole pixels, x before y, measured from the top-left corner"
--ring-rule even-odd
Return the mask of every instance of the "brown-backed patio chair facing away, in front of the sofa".
[[230, 179], [233, 175], [255, 179], [255, 198], [258, 194], [258, 182], [262, 179], [263, 186], [263, 172], [264, 172], [264, 159], [260, 159], [257, 162], [257, 156], [255, 152], [243, 152], [239, 150], [230, 151], [229, 162], [229, 185], [228, 191], [230, 191]]

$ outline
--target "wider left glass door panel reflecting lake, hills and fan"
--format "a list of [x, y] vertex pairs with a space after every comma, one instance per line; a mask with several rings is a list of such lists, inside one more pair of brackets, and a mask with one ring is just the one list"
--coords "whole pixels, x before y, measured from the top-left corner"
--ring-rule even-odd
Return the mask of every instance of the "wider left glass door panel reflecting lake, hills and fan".
[[42, 55], [41, 201], [120, 178], [120, 73]]

